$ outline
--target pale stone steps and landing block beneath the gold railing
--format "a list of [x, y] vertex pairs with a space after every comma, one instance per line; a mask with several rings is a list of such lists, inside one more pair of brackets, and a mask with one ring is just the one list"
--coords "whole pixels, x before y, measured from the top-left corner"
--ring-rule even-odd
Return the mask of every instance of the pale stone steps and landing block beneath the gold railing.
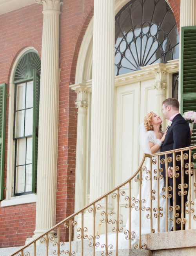
[[[89, 241], [84, 241], [84, 256], [93, 256], [93, 248], [88, 246]], [[147, 245], [146, 249], [122, 249], [118, 250], [118, 256], [196, 256], [196, 229], [180, 230], [173, 232], [163, 232], [142, 235], [142, 243]], [[76, 256], [80, 256], [80, 241], [72, 242], [72, 250]], [[0, 256], [9, 256], [19, 247], [0, 248]], [[36, 256], [45, 256], [45, 245], [36, 245]], [[49, 256], [54, 255], [56, 247], [49, 244]], [[65, 243], [62, 249], [69, 249], [69, 243]], [[33, 255], [33, 246], [28, 249]], [[112, 251], [115, 256], [115, 250]], [[65, 254], [64, 254], [65, 255]], [[101, 251], [96, 252], [96, 256], [101, 255]]]

